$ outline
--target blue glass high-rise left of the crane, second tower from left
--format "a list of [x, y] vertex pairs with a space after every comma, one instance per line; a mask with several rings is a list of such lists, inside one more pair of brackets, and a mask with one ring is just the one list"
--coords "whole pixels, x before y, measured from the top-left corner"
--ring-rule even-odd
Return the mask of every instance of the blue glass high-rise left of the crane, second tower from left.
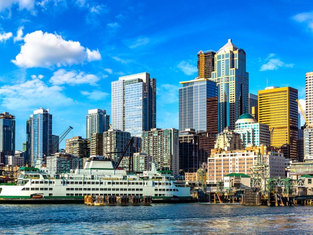
[[26, 121], [28, 164], [35, 165], [52, 154], [52, 115], [49, 109], [39, 108]]

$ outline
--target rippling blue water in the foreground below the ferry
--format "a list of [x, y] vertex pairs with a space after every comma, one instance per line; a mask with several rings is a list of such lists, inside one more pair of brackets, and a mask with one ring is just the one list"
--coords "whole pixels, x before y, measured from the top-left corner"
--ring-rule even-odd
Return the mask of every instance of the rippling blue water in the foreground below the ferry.
[[313, 234], [313, 207], [0, 205], [0, 234]]

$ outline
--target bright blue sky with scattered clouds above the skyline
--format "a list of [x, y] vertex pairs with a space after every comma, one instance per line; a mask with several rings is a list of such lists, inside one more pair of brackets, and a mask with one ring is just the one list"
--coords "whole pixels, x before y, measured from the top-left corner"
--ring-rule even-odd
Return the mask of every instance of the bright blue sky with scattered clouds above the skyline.
[[179, 81], [197, 76], [199, 50], [229, 38], [246, 51], [250, 93], [268, 80], [305, 98], [310, 0], [0, 0], [0, 112], [16, 116], [17, 150], [40, 107], [53, 115], [53, 134], [70, 125], [67, 137], [86, 137], [89, 109], [111, 114], [111, 82], [147, 71], [157, 82], [157, 127], [178, 128]]

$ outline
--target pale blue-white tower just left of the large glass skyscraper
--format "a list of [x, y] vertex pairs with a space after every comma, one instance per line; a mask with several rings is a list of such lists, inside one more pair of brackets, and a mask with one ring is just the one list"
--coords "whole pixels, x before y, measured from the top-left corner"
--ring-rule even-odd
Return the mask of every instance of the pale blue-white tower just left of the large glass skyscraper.
[[91, 141], [92, 133], [109, 130], [110, 116], [103, 109], [90, 109], [86, 115], [86, 139]]

